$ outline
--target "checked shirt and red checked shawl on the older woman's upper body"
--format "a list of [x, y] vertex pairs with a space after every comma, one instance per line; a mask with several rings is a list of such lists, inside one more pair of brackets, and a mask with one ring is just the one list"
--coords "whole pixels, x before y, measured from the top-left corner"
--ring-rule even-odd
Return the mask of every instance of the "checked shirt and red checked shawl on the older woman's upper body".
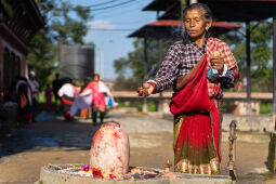
[[216, 83], [207, 81], [209, 96], [214, 97], [215, 95], [216, 98], [221, 98], [222, 88], [234, 87], [235, 79], [239, 77], [239, 73], [236, 60], [228, 45], [216, 38], [209, 38], [202, 48], [190, 41], [185, 44], [183, 41], [176, 41], [170, 47], [156, 77], [149, 81], [154, 81], [157, 84], [156, 92], [163, 91], [173, 86], [178, 77], [187, 75], [206, 52], [208, 61], [207, 69], [209, 69], [211, 66], [209, 55], [213, 51], [220, 52], [229, 71], [226, 76], [220, 77]]

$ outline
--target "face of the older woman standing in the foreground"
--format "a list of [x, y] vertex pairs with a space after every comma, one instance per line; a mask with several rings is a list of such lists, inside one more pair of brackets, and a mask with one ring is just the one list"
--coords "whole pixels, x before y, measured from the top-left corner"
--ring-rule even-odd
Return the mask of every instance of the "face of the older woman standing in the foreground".
[[190, 38], [205, 37], [206, 30], [211, 27], [210, 22], [206, 22], [203, 13], [200, 10], [189, 10], [184, 17], [184, 27]]

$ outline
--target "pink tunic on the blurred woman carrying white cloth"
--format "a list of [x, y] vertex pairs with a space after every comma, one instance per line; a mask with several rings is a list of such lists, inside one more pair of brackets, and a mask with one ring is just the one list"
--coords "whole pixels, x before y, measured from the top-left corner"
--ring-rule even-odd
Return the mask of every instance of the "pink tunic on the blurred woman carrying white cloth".
[[92, 108], [94, 111], [105, 111], [105, 96], [100, 92], [100, 83], [98, 82], [90, 82], [88, 89], [92, 90]]

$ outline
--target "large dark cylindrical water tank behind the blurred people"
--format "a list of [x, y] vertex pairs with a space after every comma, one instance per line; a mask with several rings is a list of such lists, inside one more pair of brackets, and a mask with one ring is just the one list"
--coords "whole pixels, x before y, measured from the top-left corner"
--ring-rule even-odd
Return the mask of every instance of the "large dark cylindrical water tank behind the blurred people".
[[62, 45], [61, 77], [84, 80], [94, 74], [93, 45]]

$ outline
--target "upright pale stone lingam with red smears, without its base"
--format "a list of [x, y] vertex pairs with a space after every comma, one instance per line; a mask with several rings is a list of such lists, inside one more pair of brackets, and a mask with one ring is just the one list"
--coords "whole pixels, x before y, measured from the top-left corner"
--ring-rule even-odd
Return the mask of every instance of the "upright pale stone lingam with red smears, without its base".
[[90, 166], [104, 173], [126, 174], [129, 170], [130, 143], [128, 134], [116, 122], [104, 123], [95, 133]]

